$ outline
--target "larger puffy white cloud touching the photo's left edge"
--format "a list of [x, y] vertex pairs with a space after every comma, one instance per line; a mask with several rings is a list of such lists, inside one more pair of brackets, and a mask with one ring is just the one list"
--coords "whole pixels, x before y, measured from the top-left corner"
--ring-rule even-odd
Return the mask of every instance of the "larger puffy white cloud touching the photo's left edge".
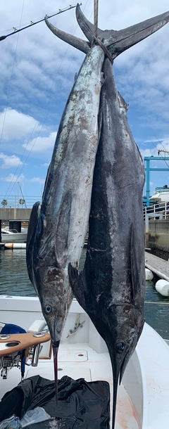
[[0, 113], [0, 130], [4, 140], [20, 139], [30, 134], [34, 129], [41, 129], [34, 117], [25, 115], [15, 109], [7, 108]]

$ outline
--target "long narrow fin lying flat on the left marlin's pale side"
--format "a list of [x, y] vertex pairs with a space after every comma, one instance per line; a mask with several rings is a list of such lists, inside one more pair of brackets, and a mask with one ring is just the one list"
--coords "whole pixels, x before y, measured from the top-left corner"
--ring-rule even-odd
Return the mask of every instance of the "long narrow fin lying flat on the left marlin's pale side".
[[65, 193], [61, 202], [61, 209], [56, 226], [55, 252], [58, 267], [65, 267], [68, 255], [68, 233], [70, 226], [70, 212], [72, 205], [72, 191]]

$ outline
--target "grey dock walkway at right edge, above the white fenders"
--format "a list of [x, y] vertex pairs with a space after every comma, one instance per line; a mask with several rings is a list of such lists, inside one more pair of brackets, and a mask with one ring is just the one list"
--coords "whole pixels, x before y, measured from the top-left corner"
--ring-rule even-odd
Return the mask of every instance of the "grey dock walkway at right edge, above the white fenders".
[[145, 266], [157, 274], [158, 277], [169, 281], [169, 262], [162, 260], [161, 257], [151, 255], [145, 252]]

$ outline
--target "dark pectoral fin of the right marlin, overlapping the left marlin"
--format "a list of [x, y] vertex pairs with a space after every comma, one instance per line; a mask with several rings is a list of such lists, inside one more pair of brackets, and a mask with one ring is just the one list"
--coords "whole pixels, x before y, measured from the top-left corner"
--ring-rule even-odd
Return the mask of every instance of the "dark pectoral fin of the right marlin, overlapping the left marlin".
[[73, 267], [72, 264], [69, 263], [68, 264], [68, 275], [69, 275], [70, 286], [73, 290], [73, 293], [74, 293], [77, 301], [81, 305], [81, 307], [86, 312], [84, 288], [83, 288], [83, 283], [85, 281], [84, 280], [84, 271], [81, 271], [81, 273], [79, 274], [77, 269], [75, 267]]

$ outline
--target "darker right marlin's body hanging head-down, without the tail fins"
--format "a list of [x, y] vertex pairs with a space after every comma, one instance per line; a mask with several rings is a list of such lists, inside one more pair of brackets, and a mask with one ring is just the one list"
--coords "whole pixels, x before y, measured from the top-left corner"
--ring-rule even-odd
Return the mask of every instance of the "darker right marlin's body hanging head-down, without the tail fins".
[[104, 79], [87, 257], [80, 276], [70, 265], [69, 274], [75, 297], [108, 346], [114, 428], [118, 380], [144, 326], [144, 165], [108, 59]]

